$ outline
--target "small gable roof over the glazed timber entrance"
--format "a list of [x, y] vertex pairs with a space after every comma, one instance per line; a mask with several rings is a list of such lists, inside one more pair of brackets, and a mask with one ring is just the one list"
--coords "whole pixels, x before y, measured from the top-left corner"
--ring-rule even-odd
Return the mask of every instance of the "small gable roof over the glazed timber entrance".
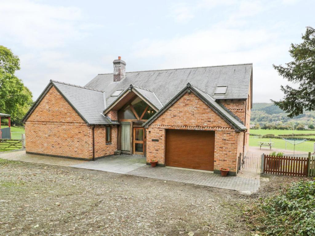
[[147, 104], [149, 104], [154, 110], [158, 111], [163, 107], [163, 104], [160, 102], [160, 100], [157, 98], [154, 92], [130, 84], [130, 86], [127, 89], [125, 89], [123, 93], [120, 93], [120, 95], [115, 97], [116, 99], [108, 107], [106, 107], [103, 113], [106, 115], [108, 111], [110, 111], [116, 104], [119, 103], [119, 101], [123, 97], [125, 97], [131, 91], [133, 91], [138, 97], [140, 97]]

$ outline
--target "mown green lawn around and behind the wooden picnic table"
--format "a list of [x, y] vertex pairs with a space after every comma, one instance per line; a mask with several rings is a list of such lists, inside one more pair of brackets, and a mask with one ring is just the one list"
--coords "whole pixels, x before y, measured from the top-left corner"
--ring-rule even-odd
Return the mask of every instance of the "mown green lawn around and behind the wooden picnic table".
[[[249, 138], [249, 146], [255, 146], [258, 147], [258, 142], [273, 142], [274, 148], [279, 149], [288, 149], [293, 150], [294, 145], [287, 142], [287, 145], [285, 145], [285, 141], [283, 139], [276, 139], [276, 138], [254, 138], [253, 136], [250, 136]], [[306, 141], [305, 143], [300, 143], [295, 145], [295, 150], [302, 151], [302, 152], [313, 152], [314, 143], [312, 141]]]

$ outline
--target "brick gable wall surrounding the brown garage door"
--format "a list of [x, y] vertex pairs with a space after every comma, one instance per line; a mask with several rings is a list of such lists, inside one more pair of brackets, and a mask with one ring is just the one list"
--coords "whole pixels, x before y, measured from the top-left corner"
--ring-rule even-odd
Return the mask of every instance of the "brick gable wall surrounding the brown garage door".
[[[186, 93], [148, 127], [147, 161], [154, 158], [164, 164], [165, 129], [215, 131], [215, 170], [228, 167], [236, 171], [239, 133], [193, 93]], [[159, 142], [152, 139], [159, 139]]]

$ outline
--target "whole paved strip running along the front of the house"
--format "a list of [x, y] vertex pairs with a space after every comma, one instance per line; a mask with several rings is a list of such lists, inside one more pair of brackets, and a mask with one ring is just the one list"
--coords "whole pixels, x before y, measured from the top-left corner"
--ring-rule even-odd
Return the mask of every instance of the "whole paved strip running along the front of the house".
[[146, 165], [146, 158], [140, 155], [112, 155], [95, 161], [83, 161], [51, 156], [32, 155], [26, 154], [25, 151], [15, 151], [10, 153], [2, 153], [0, 154], [0, 158], [115, 172], [120, 174], [197, 184], [215, 188], [225, 188], [236, 190], [244, 194], [255, 193], [260, 186], [259, 178], [241, 176], [221, 177], [221, 175], [214, 174], [209, 171], [193, 171], [160, 166], [152, 168], [151, 166]]

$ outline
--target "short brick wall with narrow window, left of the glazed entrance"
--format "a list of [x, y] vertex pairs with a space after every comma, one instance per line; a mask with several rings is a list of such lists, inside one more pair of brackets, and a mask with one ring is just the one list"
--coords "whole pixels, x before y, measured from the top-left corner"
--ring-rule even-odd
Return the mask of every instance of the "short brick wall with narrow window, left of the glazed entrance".
[[106, 126], [96, 126], [94, 129], [95, 158], [113, 155], [117, 150], [117, 126], [112, 126], [112, 142], [106, 144]]

